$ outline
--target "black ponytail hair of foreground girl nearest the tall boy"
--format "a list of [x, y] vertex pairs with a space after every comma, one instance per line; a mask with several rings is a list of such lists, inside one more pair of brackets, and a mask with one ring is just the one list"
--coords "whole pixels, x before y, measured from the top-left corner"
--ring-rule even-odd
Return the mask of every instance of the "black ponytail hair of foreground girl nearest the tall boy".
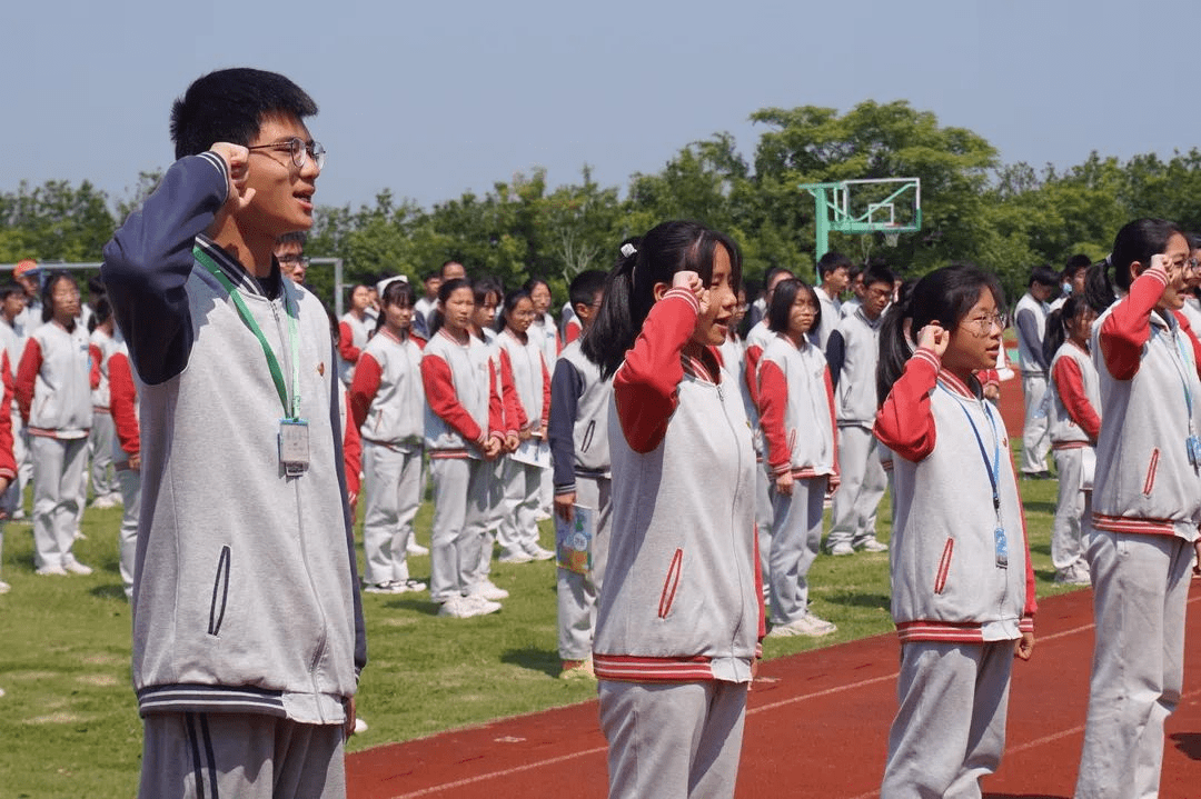
[[[628, 245], [628, 246], [627, 246]], [[626, 239], [605, 281], [604, 299], [588, 335], [584, 355], [609, 378], [634, 346], [643, 322], [655, 305], [656, 283], [671, 284], [676, 272], [693, 271], [709, 286], [718, 247], [730, 256], [730, 284], [742, 280], [742, 257], [734, 240], [699, 222], [663, 222], [645, 235]], [[625, 254], [628, 253], [628, 254]]]

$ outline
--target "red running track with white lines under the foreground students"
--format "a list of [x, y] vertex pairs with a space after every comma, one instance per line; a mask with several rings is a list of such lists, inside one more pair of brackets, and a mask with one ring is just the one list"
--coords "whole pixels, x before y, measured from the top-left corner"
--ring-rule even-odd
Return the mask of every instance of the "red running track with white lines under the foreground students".
[[[1201, 795], [1201, 581], [1189, 597], [1185, 692], [1167, 720], [1160, 795]], [[1093, 649], [1092, 591], [1045, 600], [1034, 659], [1015, 663], [994, 799], [1071, 797], [1085, 732]], [[896, 710], [892, 635], [763, 665], [751, 693], [739, 797], [877, 797]], [[605, 795], [596, 702], [501, 719], [347, 757], [352, 799], [506, 799]]]

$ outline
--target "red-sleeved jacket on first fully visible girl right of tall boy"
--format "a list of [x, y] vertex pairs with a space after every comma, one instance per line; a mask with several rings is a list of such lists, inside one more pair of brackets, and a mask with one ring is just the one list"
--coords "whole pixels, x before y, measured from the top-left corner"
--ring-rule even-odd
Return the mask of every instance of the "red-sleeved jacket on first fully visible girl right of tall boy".
[[422, 350], [387, 328], [368, 342], [351, 384], [353, 426], [372, 444], [419, 450], [425, 438]]

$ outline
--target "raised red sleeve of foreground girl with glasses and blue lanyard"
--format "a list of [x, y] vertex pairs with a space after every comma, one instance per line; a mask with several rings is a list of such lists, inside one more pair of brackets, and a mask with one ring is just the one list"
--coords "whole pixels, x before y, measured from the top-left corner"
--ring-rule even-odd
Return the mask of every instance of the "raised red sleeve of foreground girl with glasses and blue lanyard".
[[914, 463], [934, 451], [934, 414], [930, 408], [930, 392], [938, 384], [942, 361], [933, 350], [920, 348], [904, 365], [876, 414], [873, 432], [880, 444]]

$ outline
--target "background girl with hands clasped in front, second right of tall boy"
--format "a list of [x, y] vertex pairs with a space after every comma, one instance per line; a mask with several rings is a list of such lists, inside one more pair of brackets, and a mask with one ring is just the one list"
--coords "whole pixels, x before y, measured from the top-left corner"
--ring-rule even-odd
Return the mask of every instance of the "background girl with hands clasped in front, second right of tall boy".
[[471, 335], [476, 298], [465, 277], [443, 281], [422, 354], [425, 447], [434, 479], [430, 599], [438, 615], [465, 619], [501, 609], [472, 593], [488, 517], [489, 463], [501, 453], [501, 403], [488, 348]]

